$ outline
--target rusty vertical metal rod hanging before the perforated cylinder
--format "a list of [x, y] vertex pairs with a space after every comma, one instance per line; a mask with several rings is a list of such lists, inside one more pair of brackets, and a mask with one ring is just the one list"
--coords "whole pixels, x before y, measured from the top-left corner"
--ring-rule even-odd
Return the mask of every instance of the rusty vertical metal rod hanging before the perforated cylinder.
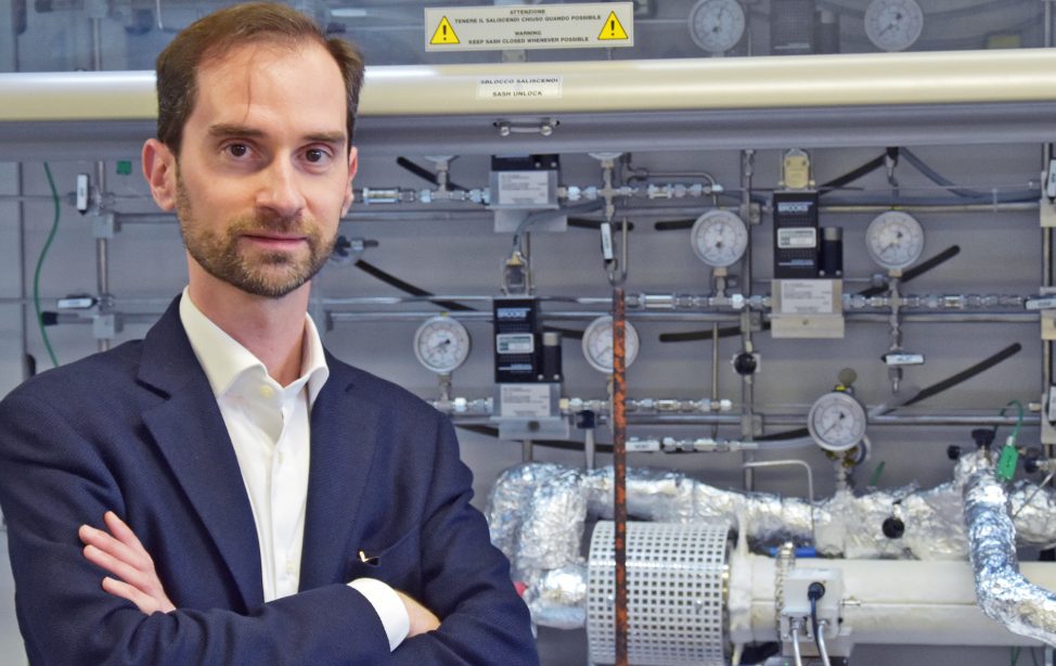
[[622, 286], [613, 290], [613, 471], [615, 475], [616, 666], [627, 666], [627, 377]]

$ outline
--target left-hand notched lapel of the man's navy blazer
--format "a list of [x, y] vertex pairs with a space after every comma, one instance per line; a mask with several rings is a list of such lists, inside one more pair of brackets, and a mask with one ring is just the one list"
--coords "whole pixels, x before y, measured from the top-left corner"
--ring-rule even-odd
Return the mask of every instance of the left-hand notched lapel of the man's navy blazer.
[[253, 609], [263, 603], [253, 509], [220, 408], [180, 323], [179, 300], [143, 341], [139, 379], [169, 396], [143, 420]]

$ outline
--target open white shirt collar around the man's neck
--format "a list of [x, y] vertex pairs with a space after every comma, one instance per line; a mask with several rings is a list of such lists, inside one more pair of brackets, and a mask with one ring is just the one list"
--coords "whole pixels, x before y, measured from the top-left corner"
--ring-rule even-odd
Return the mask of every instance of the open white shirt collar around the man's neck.
[[[248, 372], [258, 372], [262, 376], [268, 375], [263, 363], [248, 349], [243, 347], [235, 338], [223, 332], [220, 326], [213, 323], [202, 310], [191, 300], [188, 289], [183, 290], [180, 297], [180, 321], [183, 330], [186, 331], [188, 340], [191, 341], [191, 348], [206, 377], [213, 394], [218, 398], [224, 395], [237, 381], [240, 376]], [[301, 376], [293, 384], [304, 385], [308, 383], [308, 402], [315, 401], [319, 392], [330, 376], [330, 368], [326, 366], [326, 357], [323, 351], [323, 343], [319, 337], [319, 330], [307, 313], [305, 315], [305, 344], [301, 347], [300, 357]]]

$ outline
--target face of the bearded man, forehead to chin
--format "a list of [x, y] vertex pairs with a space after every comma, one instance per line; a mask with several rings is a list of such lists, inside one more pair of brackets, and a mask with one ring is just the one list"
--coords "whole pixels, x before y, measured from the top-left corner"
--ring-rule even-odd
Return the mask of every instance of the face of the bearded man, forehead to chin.
[[[250, 44], [202, 65], [169, 172], [180, 229], [205, 281], [278, 298], [333, 251], [351, 203], [345, 87], [319, 44]], [[155, 198], [157, 193], [155, 192]]]

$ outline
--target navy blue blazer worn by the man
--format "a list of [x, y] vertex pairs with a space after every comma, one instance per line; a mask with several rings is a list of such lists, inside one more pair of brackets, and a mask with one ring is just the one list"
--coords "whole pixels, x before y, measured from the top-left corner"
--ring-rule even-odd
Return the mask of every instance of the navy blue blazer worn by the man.
[[[311, 412], [300, 591], [263, 602], [239, 463], [178, 300], [145, 340], [41, 374], [0, 402], [0, 505], [33, 664], [537, 664], [525, 604], [469, 505], [450, 421], [327, 355]], [[77, 528], [121, 516], [177, 611], [100, 587]], [[378, 578], [440, 617], [389, 653]]]

